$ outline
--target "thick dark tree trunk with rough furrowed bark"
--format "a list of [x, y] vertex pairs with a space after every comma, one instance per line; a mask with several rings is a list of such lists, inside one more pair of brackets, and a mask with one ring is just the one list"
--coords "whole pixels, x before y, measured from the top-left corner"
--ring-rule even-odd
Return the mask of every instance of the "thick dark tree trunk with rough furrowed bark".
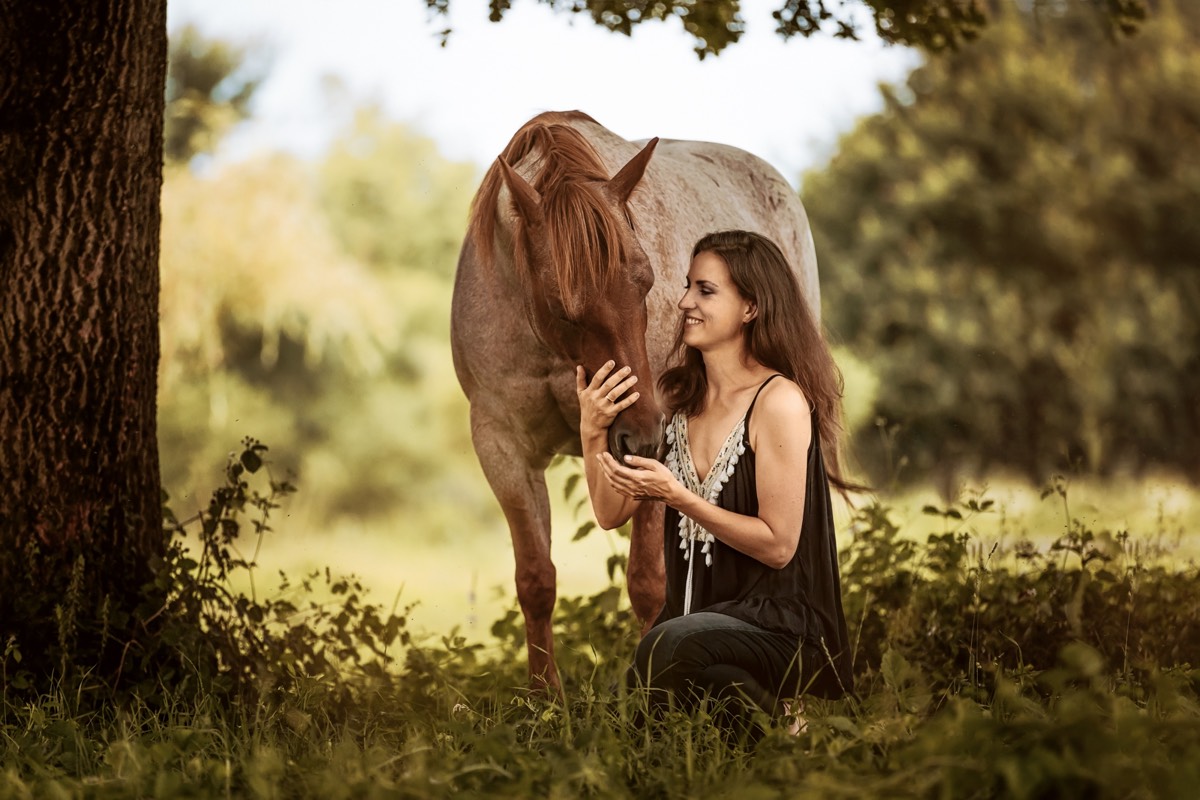
[[[4, 675], [121, 669], [162, 549], [166, 0], [0, 0]], [[106, 674], [107, 670], [107, 674]]]

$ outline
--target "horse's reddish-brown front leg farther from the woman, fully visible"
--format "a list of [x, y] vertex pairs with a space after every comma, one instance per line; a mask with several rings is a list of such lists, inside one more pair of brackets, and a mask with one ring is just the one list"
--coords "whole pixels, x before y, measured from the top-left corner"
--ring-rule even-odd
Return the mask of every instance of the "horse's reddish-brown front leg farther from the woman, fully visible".
[[550, 495], [546, 464], [522, 453], [520, 438], [504, 423], [472, 409], [472, 440], [484, 475], [504, 510], [516, 558], [517, 600], [526, 620], [529, 678], [538, 688], [559, 692], [551, 615], [554, 563], [550, 558]]

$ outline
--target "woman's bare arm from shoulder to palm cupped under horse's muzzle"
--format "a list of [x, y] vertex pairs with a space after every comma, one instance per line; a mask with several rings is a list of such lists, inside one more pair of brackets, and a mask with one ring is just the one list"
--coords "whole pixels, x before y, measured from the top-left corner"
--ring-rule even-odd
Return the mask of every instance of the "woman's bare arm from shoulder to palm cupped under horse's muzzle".
[[812, 419], [804, 393], [791, 381], [773, 381], [755, 405], [751, 427], [757, 517], [713, 505], [649, 458], [630, 456], [626, 465], [622, 465], [604, 453], [601, 465], [608, 482], [623, 495], [660, 499], [733, 549], [779, 570], [796, 555], [804, 522], [808, 450], [812, 438]]

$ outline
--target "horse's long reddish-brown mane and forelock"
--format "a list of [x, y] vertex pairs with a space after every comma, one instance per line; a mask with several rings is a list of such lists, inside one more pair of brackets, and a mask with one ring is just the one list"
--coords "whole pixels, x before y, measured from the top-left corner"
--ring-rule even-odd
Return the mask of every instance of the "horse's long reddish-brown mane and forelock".
[[[570, 126], [576, 121], [595, 122], [582, 112], [540, 114], [526, 122], [500, 154], [500, 158], [514, 167], [535, 151], [541, 160], [541, 170], [530, 184], [541, 196], [545, 236], [558, 291], [572, 319], [582, 312], [587, 289], [602, 291], [608, 276], [620, 269], [625, 257], [622, 219], [600, 193], [599, 182], [610, 176], [592, 144]], [[470, 206], [467, 235], [485, 266], [494, 263], [502, 186], [504, 178], [497, 162], [484, 175]], [[526, 285], [530, 285], [528, 237], [520, 215], [512, 231], [512, 261]]]

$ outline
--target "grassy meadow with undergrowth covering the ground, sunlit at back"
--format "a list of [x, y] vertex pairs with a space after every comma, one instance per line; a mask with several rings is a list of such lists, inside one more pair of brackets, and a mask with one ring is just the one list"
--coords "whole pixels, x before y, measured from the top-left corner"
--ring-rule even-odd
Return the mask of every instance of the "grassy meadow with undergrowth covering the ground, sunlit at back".
[[[172, 646], [212, 646], [218, 667], [182, 657], [102, 702], [86, 675], [6, 690], [0, 796], [1192, 796], [1192, 492], [1056, 479], [1045, 497], [1012, 485], [846, 511], [857, 692], [810, 699], [799, 736], [764, 716], [734, 736], [710, 708], [648, 716], [624, 686], [637, 631], [620, 559], [607, 567], [623, 539], [565, 541], [586, 515], [571, 470], [552, 481], [562, 698], [528, 688], [504, 536], [295, 533], [288, 498], [238, 470], [241, 494], [210, 507], [235, 524], [192, 523], [168, 559], [179, 608], [208, 599], [205, 632], [170, 628]], [[251, 582], [236, 553], [256, 547]]]

